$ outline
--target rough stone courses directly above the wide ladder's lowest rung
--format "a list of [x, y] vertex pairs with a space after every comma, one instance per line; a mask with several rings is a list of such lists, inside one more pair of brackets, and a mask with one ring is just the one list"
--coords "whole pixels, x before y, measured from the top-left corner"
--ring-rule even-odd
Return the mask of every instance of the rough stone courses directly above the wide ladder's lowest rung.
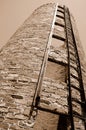
[[67, 94], [67, 86], [64, 82], [44, 78], [40, 106], [67, 114]]

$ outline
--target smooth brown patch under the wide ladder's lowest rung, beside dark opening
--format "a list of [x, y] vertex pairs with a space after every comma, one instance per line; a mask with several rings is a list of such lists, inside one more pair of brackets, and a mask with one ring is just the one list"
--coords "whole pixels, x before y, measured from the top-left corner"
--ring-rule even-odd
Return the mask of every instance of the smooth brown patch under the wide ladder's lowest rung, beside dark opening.
[[34, 127], [36, 130], [57, 130], [58, 121], [58, 115], [39, 111]]

